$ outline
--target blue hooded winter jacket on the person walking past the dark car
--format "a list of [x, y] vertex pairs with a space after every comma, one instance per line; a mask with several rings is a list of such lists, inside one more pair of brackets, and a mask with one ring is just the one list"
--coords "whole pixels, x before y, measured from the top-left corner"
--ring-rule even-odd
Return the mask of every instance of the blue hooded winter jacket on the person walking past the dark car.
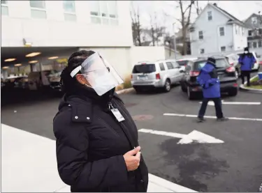
[[206, 63], [197, 77], [198, 84], [203, 88], [204, 98], [220, 98], [220, 83], [217, 70], [211, 63]]

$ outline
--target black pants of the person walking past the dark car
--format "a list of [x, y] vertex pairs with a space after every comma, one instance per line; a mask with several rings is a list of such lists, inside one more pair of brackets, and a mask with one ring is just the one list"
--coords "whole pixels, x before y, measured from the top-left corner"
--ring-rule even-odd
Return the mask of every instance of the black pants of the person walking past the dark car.
[[205, 116], [205, 110], [207, 109], [208, 101], [210, 100], [214, 101], [214, 108], [216, 109], [217, 118], [224, 117], [223, 112], [222, 112], [221, 98], [203, 98], [201, 108], [198, 112], [198, 117], [203, 118]]

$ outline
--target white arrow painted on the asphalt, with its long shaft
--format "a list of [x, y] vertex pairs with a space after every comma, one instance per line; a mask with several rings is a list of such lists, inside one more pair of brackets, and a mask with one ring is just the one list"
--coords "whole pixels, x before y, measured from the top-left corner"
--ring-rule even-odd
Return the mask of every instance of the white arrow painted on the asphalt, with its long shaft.
[[208, 134], [204, 134], [203, 132], [198, 132], [194, 130], [189, 134], [180, 134], [176, 132], [165, 132], [165, 131], [157, 131], [157, 130], [148, 130], [148, 129], [140, 129], [138, 132], [145, 132], [151, 134], [159, 134], [163, 136], [181, 138], [177, 144], [191, 144], [192, 142], [198, 142], [200, 144], [222, 144], [224, 141], [220, 139], [216, 139]]

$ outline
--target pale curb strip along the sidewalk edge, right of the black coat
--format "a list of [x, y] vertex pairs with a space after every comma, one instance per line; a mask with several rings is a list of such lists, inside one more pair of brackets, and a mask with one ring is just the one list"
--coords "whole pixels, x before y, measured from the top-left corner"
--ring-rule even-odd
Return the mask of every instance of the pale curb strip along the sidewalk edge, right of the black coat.
[[182, 185], [177, 185], [175, 183], [171, 183], [168, 180], [165, 180], [163, 178], [159, 178], [157, 176], [152, 175], [151, 173], [148, 174], [150, 183], [154, 183], [155, 185], [158, 185], [160, 187], [164, 187], [167, 190], [171, 190], [172, 192], [196, 192], [195, 190], [191, 190], [187, 187], [184, 187]]

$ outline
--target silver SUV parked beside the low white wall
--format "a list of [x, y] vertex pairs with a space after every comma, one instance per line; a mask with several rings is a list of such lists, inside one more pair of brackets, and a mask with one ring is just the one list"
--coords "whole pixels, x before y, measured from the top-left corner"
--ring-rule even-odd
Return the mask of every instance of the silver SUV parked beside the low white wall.
[[143, 89], [163, 88], [169, 92], [172, 84], [179, 84], [182, 73], [175, 60], [140, 62], [133, 67], [131, 84], [137, 92]]

